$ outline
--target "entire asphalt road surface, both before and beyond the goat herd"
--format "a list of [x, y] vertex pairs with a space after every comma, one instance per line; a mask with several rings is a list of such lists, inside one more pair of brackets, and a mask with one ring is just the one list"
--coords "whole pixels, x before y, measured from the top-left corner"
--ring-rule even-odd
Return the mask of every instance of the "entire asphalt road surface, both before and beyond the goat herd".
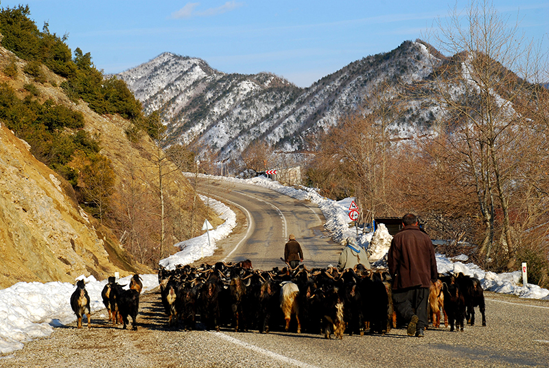
[[[314, 205], [267, 189], [225, 184], [198, 183], [202, 192], [231, 200], [227, 204], [238, 209], [239, 225], [209, 261], [249, 258], [254, 268], [283, 266], [279, 257], [293, 232], [307, 266], [336, 262], [339, 246], [326, 238]], [[424, 338], [393, 329], [327, 340], [321, 334], [296, 334], [295, 328], [269, 334], [209, 332], [200, 324], [190, 332], [168, 328], [153, 290], [141, 296], [137, 331], [113, 327], [104, 312], [96, 312], [90, 330], [78, 330], [75, 323], [58, 327], [51, 336], [0, 357], [0, 367], [549, 367], [549, 301], [491, 292], [485, 297], [486, 327], [429, 329]]]

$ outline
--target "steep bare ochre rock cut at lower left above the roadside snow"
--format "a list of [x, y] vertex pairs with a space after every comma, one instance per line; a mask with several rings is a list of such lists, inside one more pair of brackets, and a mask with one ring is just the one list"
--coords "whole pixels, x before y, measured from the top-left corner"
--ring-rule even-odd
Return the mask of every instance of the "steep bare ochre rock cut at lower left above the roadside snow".
[[110, 264], [104, 241], [62, 181], [27, 146], [0, 128], [0, 286], [124, 273]]

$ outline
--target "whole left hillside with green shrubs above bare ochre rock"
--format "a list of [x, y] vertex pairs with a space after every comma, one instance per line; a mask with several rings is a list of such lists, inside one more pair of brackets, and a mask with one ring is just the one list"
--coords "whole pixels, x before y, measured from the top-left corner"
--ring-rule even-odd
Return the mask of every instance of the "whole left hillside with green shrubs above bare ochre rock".
[[207, 209], [126, 84], [29, 15], [0, 11], [0, 284], [155, 267]]

